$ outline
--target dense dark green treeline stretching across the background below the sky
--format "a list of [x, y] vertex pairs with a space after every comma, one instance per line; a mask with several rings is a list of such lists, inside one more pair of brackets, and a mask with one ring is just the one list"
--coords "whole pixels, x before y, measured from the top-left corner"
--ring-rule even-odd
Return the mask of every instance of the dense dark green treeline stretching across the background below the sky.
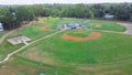
[[37, 17], [105, 19], [105, 14], [114, 15], [114, 20], [132, 21], [132, 3], [96, 3], [96, 4], [34, 4], [0, 6], [0, 22], [4, 30], [21, 26], [22, 23]]

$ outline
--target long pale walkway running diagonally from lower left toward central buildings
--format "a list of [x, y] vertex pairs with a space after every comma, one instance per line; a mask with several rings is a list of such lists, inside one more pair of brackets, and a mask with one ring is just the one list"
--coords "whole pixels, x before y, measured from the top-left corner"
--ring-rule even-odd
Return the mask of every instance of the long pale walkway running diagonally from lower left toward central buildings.
[[64, 32], [64, 31], [55, 32], [55, 33], [53, 33], [53, 34], [50, 34], [50, 35], [46, 35], [46, 36], [44, 36], [44, 38], [37, 39], [37, 40], [35, 40], [35, 41], [33, 41], [33, 42], [31, 42], [31, 43], [29, 43], [29, 44], [20, 47], [19, 50], [16, 50], [16, 51], [8, 54], [7, 57], [6, 57], [3, 61], [0, 62], [0, 64], [7, 62], [12, 55], [14, 55], [15, 53], [22, 51], [23, 49], [28, 47], [29, 45], [34, 44], [34, 43], [36, 43], [36, 42], [38, 42], [38, 41], [41, 41], [41, 40], [47, 39], [47, 38], [50, 38], [50, 36], [52, 36], [52, 35], [55, 35], [55, 34], [57, 34], [57, 33], [61, 33], [61, 32]]

